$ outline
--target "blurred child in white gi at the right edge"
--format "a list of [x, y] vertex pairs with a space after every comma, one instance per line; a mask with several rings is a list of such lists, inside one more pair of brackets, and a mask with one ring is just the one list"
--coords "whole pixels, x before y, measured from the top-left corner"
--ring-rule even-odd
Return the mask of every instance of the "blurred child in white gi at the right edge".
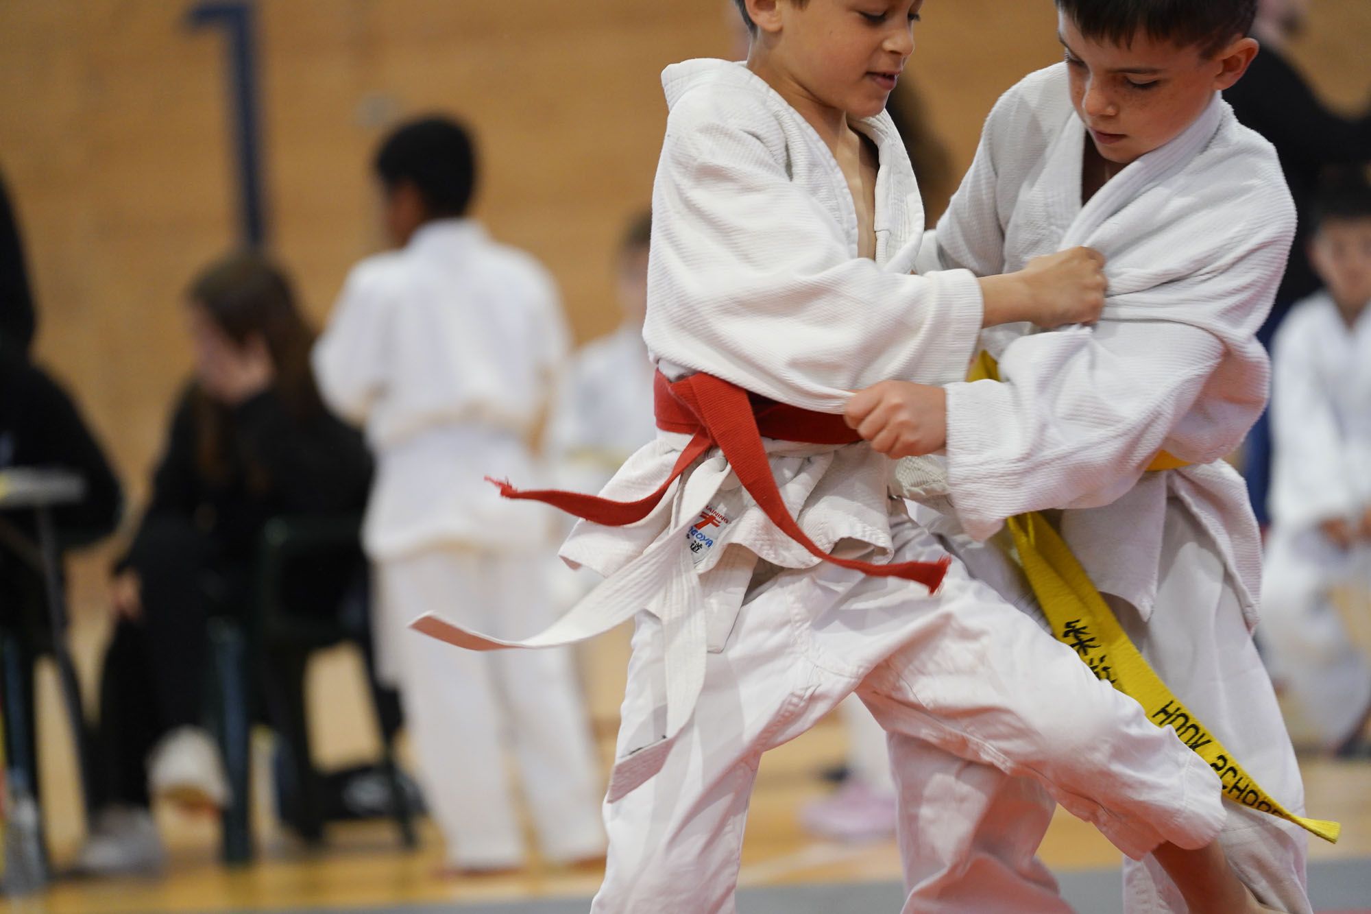
[[1333, 604], [1371, 589], [1371, 191], [1330, 187], [1309, 259], [1324, 288], [1276, 333], [1276, 441], [1263, 645], [1291, 727], [1334, 752], [1363, 744], [1371, 663]]

